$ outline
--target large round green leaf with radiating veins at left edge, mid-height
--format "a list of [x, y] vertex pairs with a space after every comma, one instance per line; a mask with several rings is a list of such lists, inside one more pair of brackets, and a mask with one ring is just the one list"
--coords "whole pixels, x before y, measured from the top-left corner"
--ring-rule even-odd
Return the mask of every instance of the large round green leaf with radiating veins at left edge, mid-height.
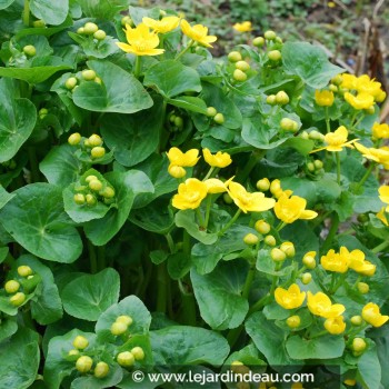
[[82, 242], [63, 211], [61, 189], [39, 182], [13, 193], [16, 197], [0, 211], [4, 229], [37, 257], [73, 262], [81, 255]]

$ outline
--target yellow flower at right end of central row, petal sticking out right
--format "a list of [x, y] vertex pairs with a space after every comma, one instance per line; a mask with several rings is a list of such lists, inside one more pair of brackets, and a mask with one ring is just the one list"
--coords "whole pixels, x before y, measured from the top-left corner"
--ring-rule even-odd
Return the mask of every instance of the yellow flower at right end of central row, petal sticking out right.
[[299, 196], [288, 198], [286, 193], [282, 193], [276, 202], [275, 212], [277, 218], [286, 223], [292, 223], [297, 219], [315, 219], [318, 213], [306, 209], [306, 199]]

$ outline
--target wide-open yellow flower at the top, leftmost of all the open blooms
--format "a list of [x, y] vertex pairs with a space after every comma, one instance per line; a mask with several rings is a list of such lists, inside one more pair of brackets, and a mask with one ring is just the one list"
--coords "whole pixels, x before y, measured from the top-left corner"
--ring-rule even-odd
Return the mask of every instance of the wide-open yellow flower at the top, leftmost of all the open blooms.
[[126, 24], [124, 32], [129, 44], [117, 42], [121, 50], [136, 56], [159, 56], [163, 53], [163, 49], [156, 49], [159, 44], [158, 36], [150, 32], [146, 24], [140, 23], [136, 28]]

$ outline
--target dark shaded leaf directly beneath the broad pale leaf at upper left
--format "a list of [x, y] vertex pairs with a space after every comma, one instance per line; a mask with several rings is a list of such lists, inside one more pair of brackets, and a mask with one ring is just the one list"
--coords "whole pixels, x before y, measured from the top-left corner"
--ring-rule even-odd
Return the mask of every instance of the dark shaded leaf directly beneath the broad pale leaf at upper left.
[[156, 99], [153, 107], [136, 114], [107, 114], [101, 134], [116, 160], [132, 167], [156, 151], [163, 119], [162, 101]]

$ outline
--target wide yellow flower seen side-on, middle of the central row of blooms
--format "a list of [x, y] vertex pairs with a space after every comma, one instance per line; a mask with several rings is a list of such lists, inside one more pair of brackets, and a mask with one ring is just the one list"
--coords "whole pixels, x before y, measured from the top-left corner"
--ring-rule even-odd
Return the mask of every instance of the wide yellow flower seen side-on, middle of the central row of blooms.
[[238, 182], [229, 182], [228, 193], [233, 202], [245, 212], [263, 212], [275, 207], [276, 200], [265, 197], [262, 192], [248, 192]]

